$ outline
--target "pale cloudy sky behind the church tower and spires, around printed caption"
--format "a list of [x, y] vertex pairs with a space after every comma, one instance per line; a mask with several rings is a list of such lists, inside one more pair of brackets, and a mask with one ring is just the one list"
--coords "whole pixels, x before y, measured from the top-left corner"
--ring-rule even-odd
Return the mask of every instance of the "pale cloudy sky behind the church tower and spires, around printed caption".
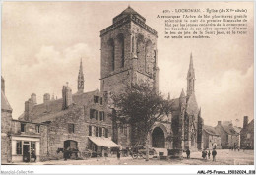
[[[158, 31], [160, 91], [179, 97], [186, 91], [190, 53], [196, 75], [195, 93], [206, 125], [232, 120], [242, 126], [253, 119], [252, 2], [4, 2], [2, 8], [2, 76], [13, 118], [24, 112], [32, 93], [61, 98], [62, 86], [77, 91], [80, 59], [85, 91], [99, 89], [99, 31], [130, 5]], [[247, 9], [246, 35], [211, 39], [165, 39], [162, 10], [175, 8]], [[234, 121], [239, 119], [239, 122]]]

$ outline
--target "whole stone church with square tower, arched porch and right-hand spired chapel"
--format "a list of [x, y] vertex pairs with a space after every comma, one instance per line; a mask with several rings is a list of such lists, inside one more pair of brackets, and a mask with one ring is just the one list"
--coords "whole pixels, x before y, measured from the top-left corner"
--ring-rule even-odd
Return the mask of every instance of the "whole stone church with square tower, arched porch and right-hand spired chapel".
[[[113, 18], [111, 26], [100, 31], [100, 37], [101, 91], [120, 94], [125, 87], [140, 84], [140, 81], [149, 81], [156, 91], [159, 90], [158, 33], [146, 25], [144, 17], [128, 7]], [[201, 149], [203, 120], [195, 98], [192, 55], [187, 84], [187, 96], [182, 92], [180, 98], [172, 100], [173, 112], [166, 116], [167, 122], [158, 123], [152, 128], [151, 146]], [[136, 131], [132, 126], [125, 126], [125, 133], [128, 133], [125, 135], [122, 127], [120, 131], [113, 124], [113, 141], [124, 147], [140, 142], [136, 140]], [[179, 141], [172, 138], [173, 135], [181, 136], [180, 146]]]

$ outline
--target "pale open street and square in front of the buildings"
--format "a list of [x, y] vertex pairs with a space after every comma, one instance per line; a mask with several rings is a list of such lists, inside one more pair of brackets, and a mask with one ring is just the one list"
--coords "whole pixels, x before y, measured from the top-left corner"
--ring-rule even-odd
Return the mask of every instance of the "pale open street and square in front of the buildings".
[[253, 165], [254, 151], [253, 150], [228, 150], [217, 149], [216, 162], [213, 162], [212, 155], [210, 159], [203, 159], [201, 152], [191, 152], [190, 159], [186, 159], [186, 154], [183, 153], [183, 159], [132, 159], [132, 157], [121, 157], [117, 160], [116, 157], [107, 158], [91, 158], [88, 160], [51, 160], [36, 163], [20, 163], [21, 165]]

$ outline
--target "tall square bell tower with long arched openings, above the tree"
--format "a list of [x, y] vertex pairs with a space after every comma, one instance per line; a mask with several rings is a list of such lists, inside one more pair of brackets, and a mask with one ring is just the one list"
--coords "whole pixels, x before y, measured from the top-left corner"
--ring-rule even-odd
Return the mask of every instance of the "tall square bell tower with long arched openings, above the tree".
[[125, 87], [149, 81], [158, 90], [158, 33], [130, 6], [100, 31], [100, 90], [119, 93]]

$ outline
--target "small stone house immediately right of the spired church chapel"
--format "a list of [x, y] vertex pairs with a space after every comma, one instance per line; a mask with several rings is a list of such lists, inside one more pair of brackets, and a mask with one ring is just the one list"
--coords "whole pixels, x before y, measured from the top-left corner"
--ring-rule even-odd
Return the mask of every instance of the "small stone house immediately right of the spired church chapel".
[[216, 129], [211, 126], [203, 126], [203, 149], [221, 149], [221, 137]]

